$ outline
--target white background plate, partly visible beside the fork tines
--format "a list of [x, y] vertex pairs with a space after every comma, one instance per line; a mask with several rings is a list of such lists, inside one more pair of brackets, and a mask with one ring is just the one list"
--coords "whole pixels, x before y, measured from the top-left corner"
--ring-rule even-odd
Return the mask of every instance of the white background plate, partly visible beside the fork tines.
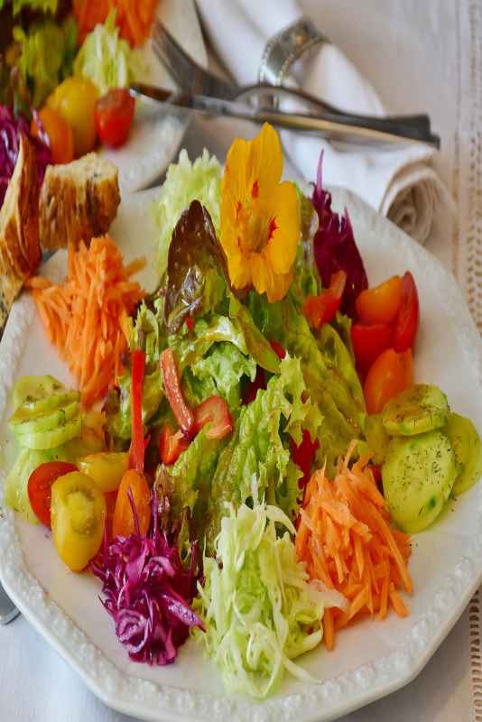
[[[182, 48], [199, 65], [208, 60], [193, 0], [162, 0], [157, 11], [162, 23]], [[151, 41], [140, 51], [143, 82], [162, 88], [174, 88], [167, 71], [153, 53]], [[190, 113], [166, 108], [149, 100], [136, 100], [134, 123], [127, 143], [118, 149], [103, 149], [102, 154], [119, 169], [121, 194], [134, 192], [158, 180], [177, 153], [190, 125]]]

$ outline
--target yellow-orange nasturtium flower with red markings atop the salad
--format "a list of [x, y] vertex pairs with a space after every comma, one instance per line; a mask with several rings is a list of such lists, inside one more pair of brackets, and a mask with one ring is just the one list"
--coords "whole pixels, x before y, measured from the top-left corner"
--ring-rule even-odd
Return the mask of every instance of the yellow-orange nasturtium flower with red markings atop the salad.
[[236, 138], [221, 185], [221, 245], [231, 283], [254, 286], [268, 301], [283, 298], [292, 282], [300, 240], [300, 204], [292, 183], [280, 183], [283, 153], [265, 123], [252, 141]]

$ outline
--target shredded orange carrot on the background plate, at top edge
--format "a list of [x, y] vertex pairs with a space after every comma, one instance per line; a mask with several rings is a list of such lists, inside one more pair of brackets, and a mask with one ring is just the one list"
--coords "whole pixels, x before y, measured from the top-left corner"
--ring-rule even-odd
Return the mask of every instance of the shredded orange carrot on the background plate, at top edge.
[[79, 42], [97, 23], [105, 23], [112, 8], [116, 8], [119, 35], [131, 47], [142, 45], [151, 34], [158, 0], [74, 0], [74, 14], [79, 23]]

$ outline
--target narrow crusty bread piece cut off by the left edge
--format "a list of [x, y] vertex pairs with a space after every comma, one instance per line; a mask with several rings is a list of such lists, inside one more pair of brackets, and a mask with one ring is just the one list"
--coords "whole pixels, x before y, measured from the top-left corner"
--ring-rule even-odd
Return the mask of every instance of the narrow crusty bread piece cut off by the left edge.
[[0, 328], [23, 282], [36, 271], [41, 255], [37, 161], [32, 144], [22, 135], [0, 208]]

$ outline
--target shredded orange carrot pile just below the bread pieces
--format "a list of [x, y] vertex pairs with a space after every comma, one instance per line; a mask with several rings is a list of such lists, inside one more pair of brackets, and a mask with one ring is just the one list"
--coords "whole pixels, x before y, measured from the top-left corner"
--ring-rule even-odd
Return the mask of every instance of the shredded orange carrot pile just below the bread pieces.
[[122, 373], [128, 347], [127, 319], [144, 298], [130, 281], [144, 259], [124, 265], [109, 236], [69, 248], [67, 279], [60, 285], [35, 276], [27, 286], [42, 317], [47, 337], [79, 383], [86, 408], [100, 399]]

